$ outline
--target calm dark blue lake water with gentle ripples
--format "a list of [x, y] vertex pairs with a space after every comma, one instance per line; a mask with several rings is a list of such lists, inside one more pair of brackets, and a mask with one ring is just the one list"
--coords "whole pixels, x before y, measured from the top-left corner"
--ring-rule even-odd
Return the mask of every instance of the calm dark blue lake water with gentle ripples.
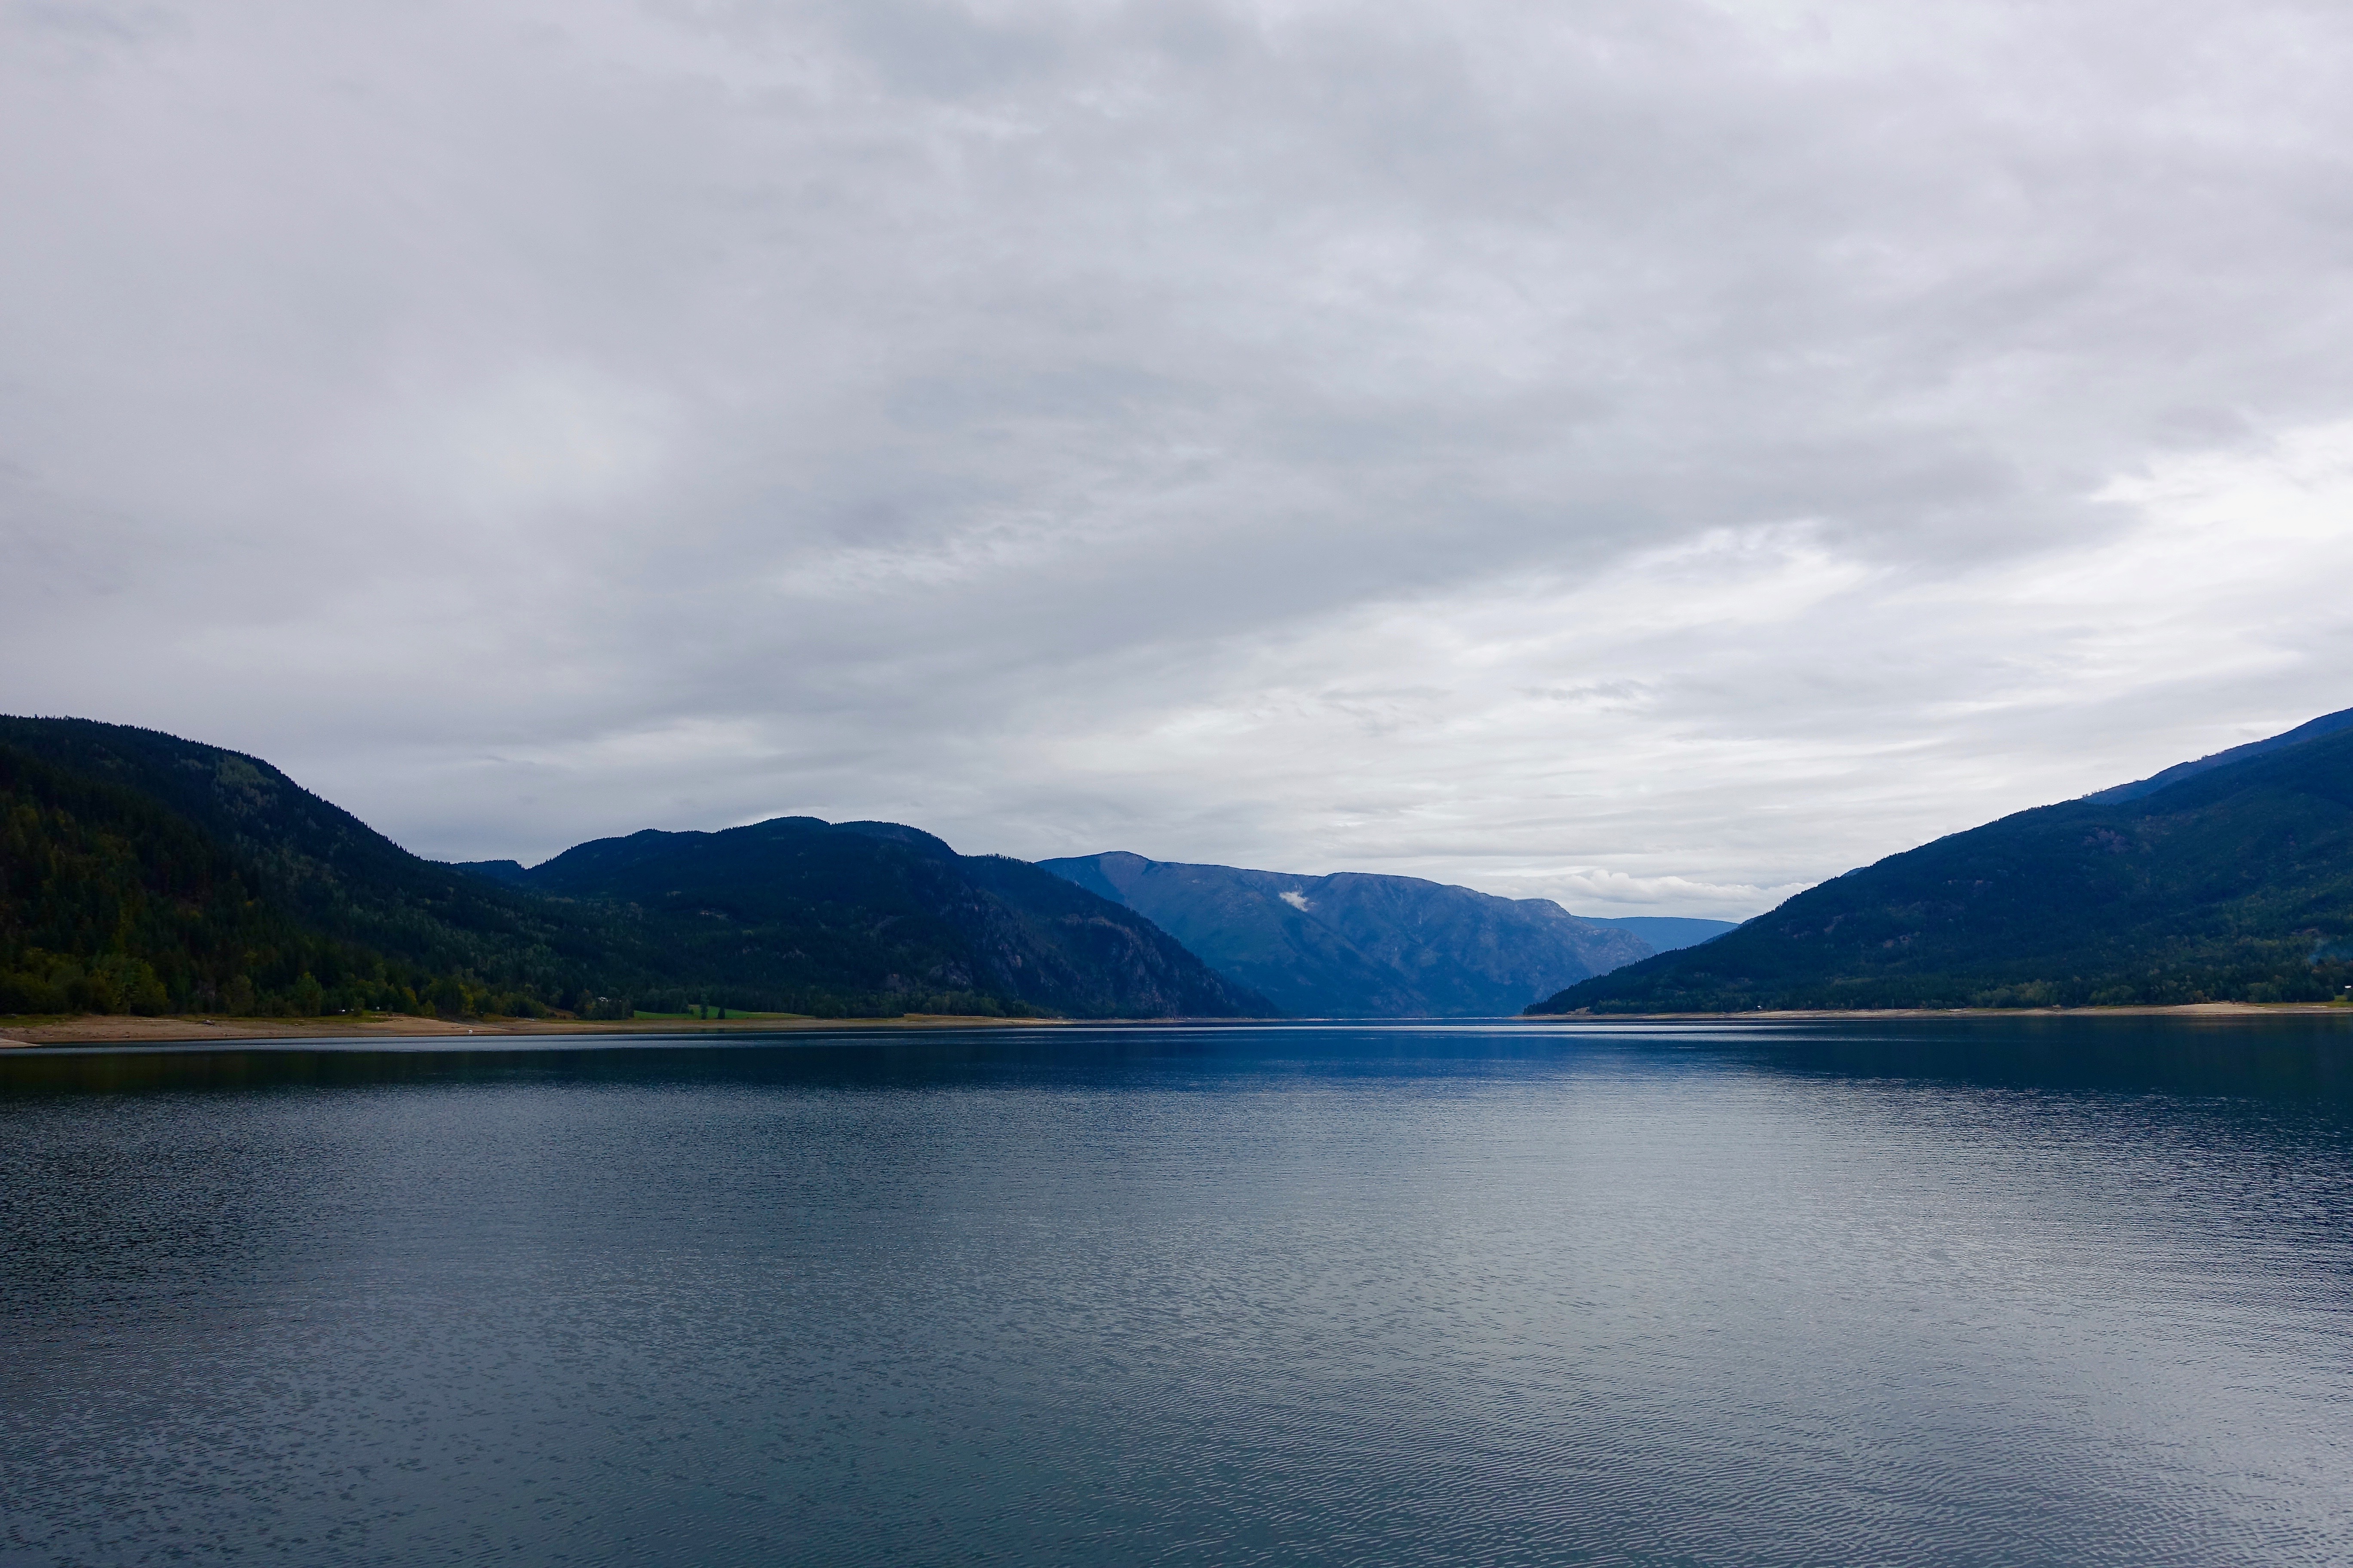
[[0, 1563], [2346, 1563], [2329, 1018], [0, 1056]]

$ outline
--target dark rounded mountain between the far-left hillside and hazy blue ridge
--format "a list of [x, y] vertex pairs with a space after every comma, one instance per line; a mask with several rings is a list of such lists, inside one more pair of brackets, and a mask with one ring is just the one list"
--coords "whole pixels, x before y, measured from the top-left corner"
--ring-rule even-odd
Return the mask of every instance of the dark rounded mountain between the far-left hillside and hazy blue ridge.
[[725, 832], [645, 830], [506, 867], [478, 875], [642, 919], [675, 978], [654, 992], [673, 1006], [708, 997], [814, 1011], [805, 1004], [821, 994], [854, 994], [868, 1006], [946, 997], [936, 1011], [1012, 1001], [1082, 1018], [1273, 1013], [1134, 910], [896, 823], [784, 816]]

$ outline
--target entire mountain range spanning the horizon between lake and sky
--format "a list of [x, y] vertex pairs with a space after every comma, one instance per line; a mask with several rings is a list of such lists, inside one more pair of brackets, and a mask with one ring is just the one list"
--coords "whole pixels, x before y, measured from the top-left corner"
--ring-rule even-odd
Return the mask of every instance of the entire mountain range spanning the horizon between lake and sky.
[[2353, 710], [1889, 856], [1739, 929], [1579, 917], [1365, 872], [1125, 851], [1033, 865], [965, 856], [899, 823], [807, 816], [645, 830], [532, 867], [440, 865], [256, 757], [92, 719], [0, 719], [0, 1016], [16, 1025], [2341, 997], [2353, 997]]

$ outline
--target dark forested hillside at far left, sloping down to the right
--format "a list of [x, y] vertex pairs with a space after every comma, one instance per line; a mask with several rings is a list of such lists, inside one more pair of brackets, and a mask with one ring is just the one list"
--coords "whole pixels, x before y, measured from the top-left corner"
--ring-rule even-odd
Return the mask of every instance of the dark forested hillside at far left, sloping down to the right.
[[612, 947], [256, 757], [0, 717], [0, 1013], [518, 1011], [576, 997]]

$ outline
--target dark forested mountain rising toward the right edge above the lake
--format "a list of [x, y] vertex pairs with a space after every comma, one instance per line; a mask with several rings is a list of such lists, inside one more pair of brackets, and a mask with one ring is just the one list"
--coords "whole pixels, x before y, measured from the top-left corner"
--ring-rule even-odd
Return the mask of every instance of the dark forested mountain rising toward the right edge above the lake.
[[2353, 985], [2346, 715], [1798, 893], [1532, 1013], [2320, 1001]]

